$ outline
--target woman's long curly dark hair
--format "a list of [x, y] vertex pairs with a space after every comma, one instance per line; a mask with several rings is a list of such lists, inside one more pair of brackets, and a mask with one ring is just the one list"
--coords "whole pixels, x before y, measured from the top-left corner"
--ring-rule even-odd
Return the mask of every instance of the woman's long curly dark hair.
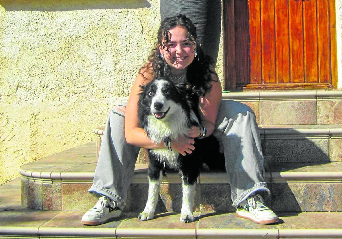
[[[195, 45], [197, 56], [193, 62], [188, 66], [186, 78], [186, 89], [190, 98], [198, 98], [204, 96], [211, 90], [211, 81], [217, 80], [217, 74], [214, 71], [212, 58], [205, 54], [200, 44], [197, 42], [197, 30], [194, 24], [189, 18], [183, 14], [179, 14], [173, 17], [165, 18], [158, 30], [158, 41], [154, 44], [154, 47], [148, 57], [148, 64], [139, 69], [139, 73], [142, 74], [144, 71], [153, 71], [153, 78], [171, 78], [170, 71], [165, 69], [168, 66], [165, 60], [161, 57], [158, 45], [161, 45], [166, 51], [167, 44], [170, 41], [169, 30], [176, 27], [182, 26], [187, 29], [187, 40]], [[152, 69], [151, 69], [152, 68]], [[216, 79], [212, 79], [211, 74], [216, 75]]]

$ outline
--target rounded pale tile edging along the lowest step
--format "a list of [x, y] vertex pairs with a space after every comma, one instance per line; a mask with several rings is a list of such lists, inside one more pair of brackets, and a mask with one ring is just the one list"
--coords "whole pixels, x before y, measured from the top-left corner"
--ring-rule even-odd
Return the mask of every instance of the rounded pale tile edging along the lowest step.
[[0, 227], [6, 238], [18, 236], [63, 238], [342, 238], [342, 229], [151, 229]]

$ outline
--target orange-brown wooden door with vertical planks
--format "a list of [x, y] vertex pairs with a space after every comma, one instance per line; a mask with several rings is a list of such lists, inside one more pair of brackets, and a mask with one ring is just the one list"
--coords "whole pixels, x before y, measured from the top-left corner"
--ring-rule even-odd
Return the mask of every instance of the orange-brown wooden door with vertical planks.
[[335, 0], [223, 0], [225, 88], [337, 87]]

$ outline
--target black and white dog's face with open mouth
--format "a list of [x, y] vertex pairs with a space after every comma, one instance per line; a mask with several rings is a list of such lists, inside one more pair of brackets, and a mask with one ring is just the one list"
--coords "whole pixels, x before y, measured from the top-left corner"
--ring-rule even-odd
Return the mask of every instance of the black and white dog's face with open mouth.
[[144, 108], [144, 115], [152, 114], [156, 119], [167, 119], [182, 110], [185, 93], [180, 85], [165, 79], [155, 79], [142, 88], [139, 108]]

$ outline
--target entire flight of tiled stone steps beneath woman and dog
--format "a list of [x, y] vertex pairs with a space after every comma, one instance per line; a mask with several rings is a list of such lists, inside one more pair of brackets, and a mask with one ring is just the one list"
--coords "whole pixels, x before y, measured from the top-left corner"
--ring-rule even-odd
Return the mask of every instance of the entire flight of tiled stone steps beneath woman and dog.
[[245, 103], [257, 116], [272, 192], [266, 204], [279, 215], [278, 224], [237, 217], [223, 171], [201, 173], [195, 222], [179, 222], [181, 180], [172, 171], [162, 182], [156, 219], [140, 222], [148, 188], [141, 151], [122, 216], [82, 225], [84, 211], [96, 202], [87, 189], [99, 128], [96, 143], [23, 165], [20, 178], [0, 185], [0, 238], [342, 238], [342, 92], [228, 93], [223, 99]]

